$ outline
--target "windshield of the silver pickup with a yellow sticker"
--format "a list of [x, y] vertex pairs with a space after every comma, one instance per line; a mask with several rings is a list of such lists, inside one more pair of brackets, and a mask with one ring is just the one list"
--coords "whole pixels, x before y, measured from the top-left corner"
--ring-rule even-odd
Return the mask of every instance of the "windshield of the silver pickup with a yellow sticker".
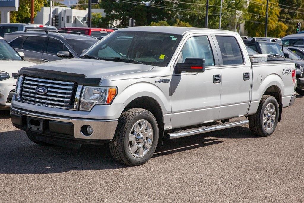
[[165, 67], [181, 38], [181, 35], [170, 33], [119, 31], [100, 40], [85, 54], [101, 60], [127, 58], [131, 63], [135, 60], [145, 65]]

